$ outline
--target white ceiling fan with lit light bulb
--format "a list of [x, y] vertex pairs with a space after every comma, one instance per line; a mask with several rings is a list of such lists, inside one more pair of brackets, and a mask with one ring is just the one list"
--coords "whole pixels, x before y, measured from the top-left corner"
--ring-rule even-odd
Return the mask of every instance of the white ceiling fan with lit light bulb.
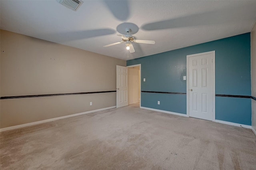
[[130, 51], [130, 53], [134, 53], [135, 52], [135, 49], [132, 45], [132, 42], [135, 42], [135, 43], [148, 43], [148, 44], [155, 44], [156, 42], [153, 41], [153, 40], [136, 40], [134, 39], [134, 37], [129, 34], [131, 32], [131, 29], [130, 28], [126, 28], [125, 31], [127, 32], [127, 35], [117, 35], [119, 37], [122, 38], [122, 42], [116, 42], [116, 43], [111, 43], [111, 44], [108, 44], [108, 45], [104, 45], [103, 47], [109, 47], [109, 46], [112, 46], [112, 45], [116, 45], [116, 44], [119, 44], [119, 43], [126, 43], [126, 49]]

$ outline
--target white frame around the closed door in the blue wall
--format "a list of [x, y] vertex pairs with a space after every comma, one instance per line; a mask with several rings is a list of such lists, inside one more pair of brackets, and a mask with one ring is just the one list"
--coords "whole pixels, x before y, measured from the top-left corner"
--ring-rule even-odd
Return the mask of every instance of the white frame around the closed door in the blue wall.
[[189, 117], [189, 57], [194, 57], [197, 55], [205, 55], [205, 54], [212, 54], [212, 121], [215, 122], [215, 51], [208, 51], [204, 53], [197, 53], [187, 55], [187, 116]]

